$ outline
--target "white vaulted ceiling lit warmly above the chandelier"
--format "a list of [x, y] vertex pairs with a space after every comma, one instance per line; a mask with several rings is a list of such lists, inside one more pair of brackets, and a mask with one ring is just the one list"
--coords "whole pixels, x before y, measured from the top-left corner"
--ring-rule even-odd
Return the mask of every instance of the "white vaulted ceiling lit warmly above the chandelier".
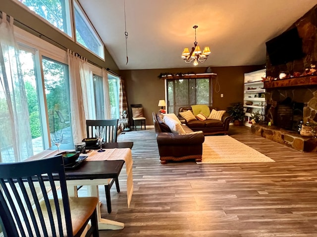
[[184, 47], [209, 46], [198, 67], [260, 65], [265, 42], [302, 17], [317, 0], [79, 0], [120, 70], [187, 68]]

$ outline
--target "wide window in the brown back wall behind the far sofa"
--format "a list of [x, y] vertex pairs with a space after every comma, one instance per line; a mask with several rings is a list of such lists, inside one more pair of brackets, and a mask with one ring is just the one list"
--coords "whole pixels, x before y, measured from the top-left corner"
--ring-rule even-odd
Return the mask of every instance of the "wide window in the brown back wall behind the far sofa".
[[176, 113], [180, 107], [212, 105], [211, 77], [166, 79], [168, 113]]

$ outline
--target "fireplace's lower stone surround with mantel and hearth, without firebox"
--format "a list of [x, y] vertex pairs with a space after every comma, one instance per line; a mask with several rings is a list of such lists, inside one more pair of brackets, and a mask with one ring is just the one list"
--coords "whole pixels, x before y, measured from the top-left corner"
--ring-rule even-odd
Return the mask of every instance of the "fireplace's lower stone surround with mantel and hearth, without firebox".
[[[317, 138], [302, 137], [296, 131], [275, 126], [274, 121], [278, 105], [289, 100], [304, 105], [304, 123], [309, 121], [317, 124], [317, 76], [264, 82], [264, 87], [267, 108], [265, 119], [272, 125], [252, 125], [252, 132], [298, 151], [317, 152]], [[289, 120], [285, 120], [285, 123], [289, 123]]]

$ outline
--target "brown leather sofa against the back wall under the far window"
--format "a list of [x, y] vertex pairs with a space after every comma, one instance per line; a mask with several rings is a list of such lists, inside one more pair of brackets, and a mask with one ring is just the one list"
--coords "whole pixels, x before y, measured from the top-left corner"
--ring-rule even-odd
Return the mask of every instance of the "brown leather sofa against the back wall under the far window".
[[[210, 107], [210, 110], [215, 109]], [[179, 112], [186, 112], [190, 110], [193, 112], [192, 107], [181, 107], [178, 110], [178, 118], [181, 123], [186, 124], [193, 131], [203, 131], [204, 135], [214, 135], [214, 134], [228, 134], [229, 123], [231, 122], [231, 117], [228, 113], [224, 113], [221, 121], [215, 119], [206, 119], [201, 121], [199, 119], [187, 122], [185, 118], [181, 117]]]

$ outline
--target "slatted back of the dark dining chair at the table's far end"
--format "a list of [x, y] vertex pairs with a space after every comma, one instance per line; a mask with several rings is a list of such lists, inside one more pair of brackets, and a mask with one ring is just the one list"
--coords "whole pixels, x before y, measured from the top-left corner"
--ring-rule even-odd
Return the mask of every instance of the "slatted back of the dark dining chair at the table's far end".
[[95, 129], [104, 128], [104, 142], [117, 142], [117, 127], [119, 119], [86, 120], [87, 137], [96, 137]]

